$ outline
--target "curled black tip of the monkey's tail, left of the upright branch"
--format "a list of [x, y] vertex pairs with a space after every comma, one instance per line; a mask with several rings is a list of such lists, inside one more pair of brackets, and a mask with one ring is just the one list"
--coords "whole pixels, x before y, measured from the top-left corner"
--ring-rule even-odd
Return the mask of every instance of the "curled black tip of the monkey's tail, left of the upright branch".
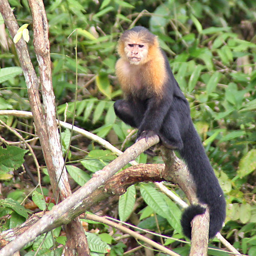
[[206, 208], [200, 206], [199, 204], [192, 204], [187, 207], [182, 213], [180, 224], [182, 226], [183, 234], [191, 239], [191, 221], [198, 214], [203, 214]]

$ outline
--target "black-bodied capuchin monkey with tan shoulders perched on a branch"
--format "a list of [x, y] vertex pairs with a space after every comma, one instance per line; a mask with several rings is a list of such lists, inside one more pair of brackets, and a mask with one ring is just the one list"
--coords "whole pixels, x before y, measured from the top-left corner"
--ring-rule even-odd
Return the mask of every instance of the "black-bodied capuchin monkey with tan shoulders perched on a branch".
[[[158, 134], [165, 147], [180, 152], [192, 174], [199, 202], [209, 206], [209, 238], [214, 237], [226, 217], [225, 198], [157, 36], [136, 26], [121, 35], [117, 49], [120, 59], [116, 75], [125, 99], [115, 102], [116, 115], [138, 128], [137, 140]], [[199, 205], [184, 210], [181, 225], [187, 237], [191, 238], [193, 217], [204, 212]]]

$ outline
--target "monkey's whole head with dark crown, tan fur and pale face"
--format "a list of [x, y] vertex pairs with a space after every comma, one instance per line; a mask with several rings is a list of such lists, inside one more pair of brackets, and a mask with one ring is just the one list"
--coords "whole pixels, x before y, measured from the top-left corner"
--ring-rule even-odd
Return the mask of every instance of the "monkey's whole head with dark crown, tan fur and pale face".
[[150, 61], [153, 55], [152, 49], [156, 48], [158, 48], [157, 36], [141, 26], [122, 33], [117, 46], [121, 58], [127, 59], [133, 65], [141, 65]]

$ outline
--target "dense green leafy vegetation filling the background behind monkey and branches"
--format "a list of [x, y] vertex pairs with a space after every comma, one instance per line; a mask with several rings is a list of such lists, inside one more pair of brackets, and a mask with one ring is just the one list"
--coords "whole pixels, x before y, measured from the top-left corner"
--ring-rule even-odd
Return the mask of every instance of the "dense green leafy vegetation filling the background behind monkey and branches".
[[[26, 0], [10, 0], [9, 3], [14, 7], [19, 25], [29, 24], [31, 39], [28, 48], [36, 69], [28, 4]], [[118, 58], [115, 51], [118, 37], [133, 25], [145, 26], [158, 35], [174, 76], [189, 100], [191, 117], [225, 193], [227, 217], [221, 234], [241, 253], [256, 255], [256, 2], [49, 0], [44, 1], [44, 4], [49, 22], [52, 83], [59, 119], [66, 118], [71, 122], [74, 115], [76, 33], [69, 35], [77, 29], [78, 95], [75, 125], [105, 138], [117, 148], [126, 148], [135, 139], [132, 136], [122, 145], [132, 128], [117, 119], [113, 111], [113, 102], [122, 97], [114, 70]], [[8, 32], [1, 25], [0, 109], [29, 111], [24, 76], [13, 42], [8, 36], [5, 41], [5, 35]], [[31, 119], [0, 116], [0, 120], [16, 128], [25, 139], [35, 137]], [[37, 173], [27, 150], [17, 148], [18, 144], [15, 147], [7, 146], [6, 141], [17, 141], [17, 137], [3, 126], [0, 130], [0, 222], [2, 230], [6, 230], [23, 223], [26, 216], [16, 211], [14, 206], [11, 207], [8, 200], [22, 202], [25, 206], [32, 202], [37, 204], [36, 193], [26, 198], [35, 188], [36, 182], [33, 183], [32, 177], [36, 181]], [[66, 153], [70, 132], [63, 130], [61, 137], [63, 152]], [[42, 166], [44, 195], [51, 195], [40, 145], [37, 141], [31, 144]], [[83, 137], [74, 136], [71, 145], [67, 170], [73, 189], [115, 158], [110, 151], [103, 150]], [[8, 163], [6, 156], [9, 156]], [[162, 162], [160, 156], [152, 158], [144, 154], [138, 161]], [[23, 173], [24, 168], [30, 169], [32, 177]], [[172, 186], [172, 189], [186, 200], [179, 187]], [[172, 223], [157, 210], [158, 200], [166, 200], [167, 204], [169, 201], [152, 184], [137, 184], [129, 193], [129, 198], [134, 198], [136, 194], [137, 208], [128, 222], [158, 233], [157, 219], [161, 234], [184, 238], [179, 229], [174, 229]], [[160, 199], [152, 197], [152, 200], [147, 200], [147, 193]], [[120, 202], [122, 200], [123, 197]], [[129, 203], [130, 206], [127, 206]], [[100, 209], [100, 213], [125, 221], [131, 214], [133, 204], [119, 203], [118, 207], [115, 203]], [[43, 207], [39, 206], [41, 210]], [[179, 215], [181, 210], [176, 207], [173, 211]], [[178, 223], [178, 219], [173, 222]], [[137, 246], [133, 239], [119, 241], [119, 232], [102, 224], [89, 223], [86, 228], [98, 234], [99, 246], [106, 249], [105, 243], [109, 244], [109, 255], [123, 255], [124, 251]], [[65, 243], [65, 234], [60, 233], [60, 229], [55, 230], [54, 236], [54, 239], [49, 237], [43, 244], [46, 255], [53, 255], [50, 252], [53, 243]], [[31, 250], [36, 250], [42, 239], [39, 237], [27, 245], [22, 255], [26, 252], [26, 255], [33, 255], [30, 254]], [[189, 245], [179, 241], [166, 240], [165, 245], [180, 255], [187, 255], [189, 250]], [[218, 246], [216, 238], [211, 246]], [[104, 250], [98, 248], [101, 247], [91, 245], [92, 253], [103, 255]], [[137, 255], [143, 255], [141, 250]], [[217, 251], [209, 254], [227, 255]]]

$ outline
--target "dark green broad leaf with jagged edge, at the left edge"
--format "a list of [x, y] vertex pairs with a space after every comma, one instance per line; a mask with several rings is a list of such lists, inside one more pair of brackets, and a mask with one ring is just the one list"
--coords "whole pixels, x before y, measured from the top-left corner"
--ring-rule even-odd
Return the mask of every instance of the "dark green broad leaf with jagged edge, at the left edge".
[[28, 150], [7, 145], [0, 147], [0, 171], [9, 172], [18, 169], [24, 162], [24, 155]]

